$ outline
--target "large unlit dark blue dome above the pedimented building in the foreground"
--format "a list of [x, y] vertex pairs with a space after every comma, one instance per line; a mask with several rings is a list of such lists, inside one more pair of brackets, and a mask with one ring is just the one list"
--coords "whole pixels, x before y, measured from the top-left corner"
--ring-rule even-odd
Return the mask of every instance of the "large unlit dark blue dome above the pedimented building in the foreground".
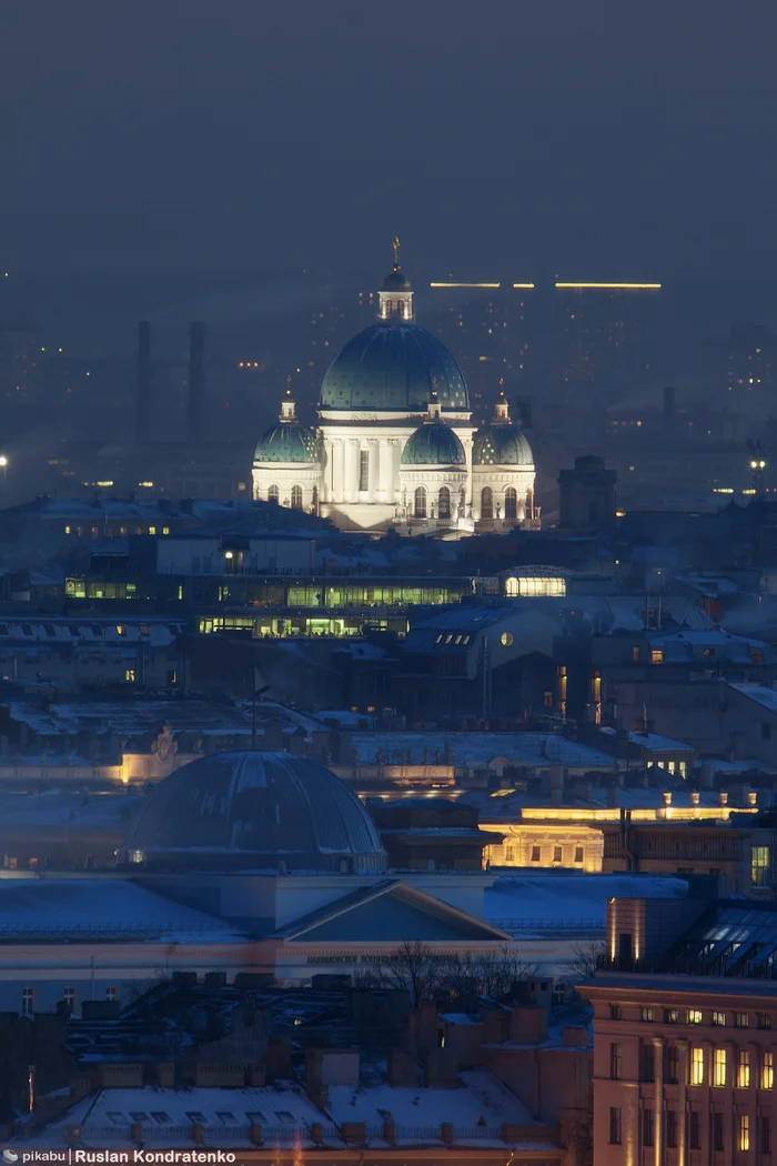
[[383, 871], [368, 812], [317, 761], [214, 753], [154, 791], [120, 861], [168, 870]]

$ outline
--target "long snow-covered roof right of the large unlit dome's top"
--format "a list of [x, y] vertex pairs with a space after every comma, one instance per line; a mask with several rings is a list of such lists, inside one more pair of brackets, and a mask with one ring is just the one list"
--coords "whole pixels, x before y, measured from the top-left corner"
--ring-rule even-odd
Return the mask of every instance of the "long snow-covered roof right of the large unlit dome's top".
[[575, 770], [612, 770], [614, 759], [589, 745], [570, 740], [560, 733], [542, 732], [355, 732], [345, 742], [355, 750], [362, 764], [370, 764], [379, 752], [390, 763], [404, 760], [421, 765], [445, 754], [454, 765], [488, 766], [497, 758], [511, 766], [546, 768], [564, 765]]

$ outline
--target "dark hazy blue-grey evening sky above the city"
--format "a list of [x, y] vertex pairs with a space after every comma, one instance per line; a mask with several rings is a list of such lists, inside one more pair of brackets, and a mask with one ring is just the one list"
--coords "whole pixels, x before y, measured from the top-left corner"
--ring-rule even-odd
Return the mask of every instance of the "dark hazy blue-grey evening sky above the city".
[[774, 0], [3, 0], [14, 274], [771, 280]]

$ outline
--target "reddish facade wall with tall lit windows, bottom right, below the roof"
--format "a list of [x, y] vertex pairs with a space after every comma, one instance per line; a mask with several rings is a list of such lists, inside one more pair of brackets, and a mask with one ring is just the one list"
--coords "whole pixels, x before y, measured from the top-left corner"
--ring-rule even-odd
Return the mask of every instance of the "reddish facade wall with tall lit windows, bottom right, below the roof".
[[[661, 986], [657, 982], [642, 986], [637, 979], [598, 976], [591, 986], [596, 1166], [769, 1163], [770, 1156], [761, 1152], [764, 1130], [760, 1123], [769, 1123], [774, 1153], [777, 1102], [774, 1070], [764, 1072], [764, 1054], [771, 1055], [774, 1066], [777, 1041], [775, 1030], [758, 1024], [768, 1019], [777, 1026], [774, 995], [753, 983], [737, 993], [728, 982], [721, 995], [715, 982], [708, 979], [662, 977]], [[620, 1009], [620, 1013], [610, 1012], [612, 1007]], [[688, 1023], [694, 1012], [700, 1014], [698, 1024]], [[713, 1012], [722, 1013], [725, 1025], [713, 1025]], [[746, 1019], [747, 1026], [739, 1027]], [[694, 1049], [700, 1051], [695, 1068]], [[716, 1077], [719, 1051], [726, 1061]], [[742, 1054], [747, 1056], [747, 1069]], [[620, 1080], [613, 1080], [619, 1068]], [[762, 1088], [764, 1084], [769, 1087]], [[613, 1109], [620, 1110], [620, 1119], [614, 1123], [620, 1121], [620, 1143], [610, 1140]], [[645, 1145], [645, 1111], [652, 1115], [655, 1145]], [[650, 1118], [647, 1121], [650, 1123]], [[672, 1126], [677, 1131], [676, 1146], [671, 1145]], [[715, 1133], [720, 1138], [718, 1149]], [[743, 1149], [746, 1142], [748, 1149]]]

